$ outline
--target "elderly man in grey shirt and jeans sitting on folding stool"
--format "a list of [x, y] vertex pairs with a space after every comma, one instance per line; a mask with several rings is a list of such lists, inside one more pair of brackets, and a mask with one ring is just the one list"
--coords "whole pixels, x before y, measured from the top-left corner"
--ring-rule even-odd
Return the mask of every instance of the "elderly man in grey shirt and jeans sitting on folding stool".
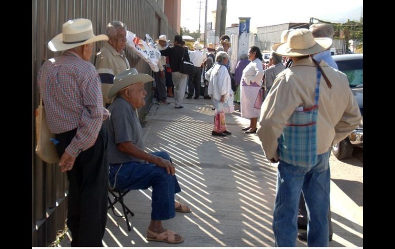
[[115, 98], [108, 107], [111, 115], [104, 122], [108, 133], [108, 161], [110, 188], [146, 189], [152, 187], [151, 223], [147, 240], [181, 243], [183, 237], [162, 226], [162, 220], [175, 213], [191, 209], [174, 202], [174, 194], [181, 191], [175, 177], [170, 156], [164, 152], [144, 151], [143, 131], [136, 110], [145, 105], [144, 83], [151, 76], [128, 69], [114, 78], [108, 98]]

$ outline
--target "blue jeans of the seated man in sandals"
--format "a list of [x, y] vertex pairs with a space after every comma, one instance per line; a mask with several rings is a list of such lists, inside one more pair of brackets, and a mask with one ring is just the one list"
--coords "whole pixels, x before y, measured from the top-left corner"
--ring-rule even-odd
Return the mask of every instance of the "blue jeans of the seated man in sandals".
[[[151, 153], [171, 162], [163, 151]], [[174, 218], [174, 194], [181, 191], [177, 178], [167, 174], [166, 169], [152, 163], [112, 164], [109, 168], [110, 186], [118, 189], [147, 189], [152, 186], [151, 220]]]

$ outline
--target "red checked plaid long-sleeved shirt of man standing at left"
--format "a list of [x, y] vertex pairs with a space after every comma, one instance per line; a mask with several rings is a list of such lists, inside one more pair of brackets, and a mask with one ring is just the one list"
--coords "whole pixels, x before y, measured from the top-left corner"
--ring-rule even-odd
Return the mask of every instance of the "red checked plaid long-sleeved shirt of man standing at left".
[[50, 131], [59, 134], [77, 129], [66, 151], [76, 157], [93, 146], [108, 116], [95, 67], [68, 50], [43, 64], [37, 82]]

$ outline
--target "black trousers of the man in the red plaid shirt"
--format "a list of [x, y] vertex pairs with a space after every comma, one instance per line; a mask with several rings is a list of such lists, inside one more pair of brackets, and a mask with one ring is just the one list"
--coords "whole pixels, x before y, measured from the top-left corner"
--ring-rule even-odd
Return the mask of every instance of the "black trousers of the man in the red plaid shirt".
[[[56, 145], [60, 157], [75, 133], [76, 129], [56, 135], [60, 142]], [[73, 168], [67, 171], [67, 179], [67, 226], [71, 231], [71, 246], [103, 246], [108, 201], [107, 133], [104, 127], [95, 144], [75, 159]]]

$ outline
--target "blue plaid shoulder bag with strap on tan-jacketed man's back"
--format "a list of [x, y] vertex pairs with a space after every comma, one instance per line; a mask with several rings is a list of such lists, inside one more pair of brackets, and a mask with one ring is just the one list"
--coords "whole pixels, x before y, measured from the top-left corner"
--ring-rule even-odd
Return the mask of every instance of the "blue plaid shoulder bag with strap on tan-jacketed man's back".
[[317, 116], [320, 95], [321, 72], [317, 68], [314, 106], [298, 107], [285, 122], [278, 139], [278, 155], [286, 163], [299, 167], [313, 167], [317, 164]]

